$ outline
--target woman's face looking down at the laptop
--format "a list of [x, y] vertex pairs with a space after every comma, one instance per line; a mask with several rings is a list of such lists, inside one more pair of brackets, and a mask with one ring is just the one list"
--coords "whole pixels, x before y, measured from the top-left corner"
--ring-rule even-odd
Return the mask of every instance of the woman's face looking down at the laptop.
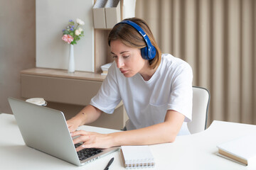
[[138, 48], [127, 47], [121, 40], [110, 42], [112, 56], [124, 77], [133, 77], [135, 74], [142, 74], [148, 65]]

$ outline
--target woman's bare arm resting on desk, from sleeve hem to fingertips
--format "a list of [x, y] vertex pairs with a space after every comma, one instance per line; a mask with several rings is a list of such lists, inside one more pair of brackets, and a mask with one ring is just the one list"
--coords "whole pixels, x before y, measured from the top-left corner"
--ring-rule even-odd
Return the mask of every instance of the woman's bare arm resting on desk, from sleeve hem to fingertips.
[[164, 142], [174, 142], [176, 135], [183, 124], [185, 116], [176, 111], [167, 111], [164, 123], [151, 125], [138, 130], [128, 130], [124, 132], [114, 132], [110, 134], [99, 134], [96, 132], [86, 132], [84, 130], [75, 131], [72, 136], [74, 143], [84, 142], [77, 148], [98, 147], [107, 148], [122, 145], [151, 145]]

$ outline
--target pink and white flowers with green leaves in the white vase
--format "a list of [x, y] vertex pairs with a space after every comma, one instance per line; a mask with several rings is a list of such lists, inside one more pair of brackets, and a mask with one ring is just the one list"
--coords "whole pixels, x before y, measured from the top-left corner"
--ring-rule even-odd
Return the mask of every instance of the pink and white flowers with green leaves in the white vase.
[[68, 26], [63, 29], [62, 40], [68, 42], [68, 44], [77, 44], [77, 41], [84, 36], [84, 31], [79, 27], [83, 25], [85, 25], [85, 22], [79, 18], [76, 19], [76, 22], [73, 20], [68, 21]]

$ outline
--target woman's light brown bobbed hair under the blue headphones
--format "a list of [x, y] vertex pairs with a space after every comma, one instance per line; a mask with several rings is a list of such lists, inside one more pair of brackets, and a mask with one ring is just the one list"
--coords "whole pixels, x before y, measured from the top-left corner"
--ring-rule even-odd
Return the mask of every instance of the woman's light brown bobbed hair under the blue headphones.
[[[149, 37], [151, 44], [156, 48], [156, 56], [154, 59], [149, 60], [149, 67], [154, 69], [159, 66], [161, 62], [161, 50], [159, 49], [158, 45], [156, 44], [156, 40], [154, 40], [154, 36], [151, 33], [149, 26], [146, 24], [145, 21], [139, 18], [127, 18], [124, 20], [132, 21], [137, 23], [140, 26], [146, 35]], [[136, 47], [136, 48], [143, 48], [146, 47], [146, 42], [142, 35], [132, 26], [127, 25], [126, 23], [119, 23], [112, 28], [110, 34], [108, 36], [108, 44], [112, 40], [121, 40], [124, 45], [128, 47]]]

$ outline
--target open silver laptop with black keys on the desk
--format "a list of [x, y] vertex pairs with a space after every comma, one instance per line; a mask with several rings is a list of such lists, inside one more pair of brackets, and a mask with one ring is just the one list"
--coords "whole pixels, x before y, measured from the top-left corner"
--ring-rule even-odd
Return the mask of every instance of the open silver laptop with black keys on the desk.
[[78, 166], [119, 149], [119, 147], [82, 149], [82, 151], [76, 152], [68, 125], [61, 111], [37, 106], [16, 98], [8, 98], [8, 100], [23, 140], [28, 147]]

